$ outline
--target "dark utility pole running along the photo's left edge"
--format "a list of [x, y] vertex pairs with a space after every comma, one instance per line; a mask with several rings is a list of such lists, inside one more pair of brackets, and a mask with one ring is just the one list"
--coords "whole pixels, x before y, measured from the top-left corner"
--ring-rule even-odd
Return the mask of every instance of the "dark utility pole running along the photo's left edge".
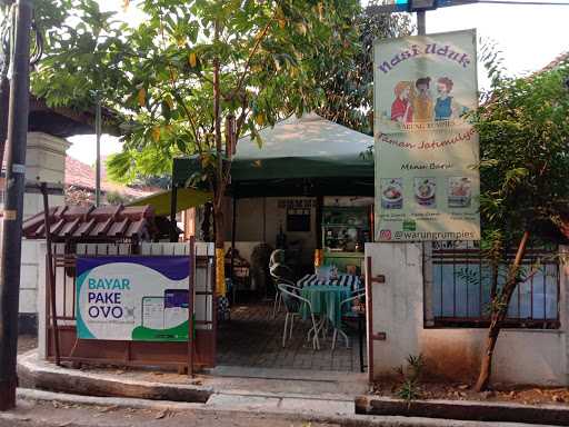
[[0, 410], [16, 407], [18, 308], [22, 244], [26, 146], [30, 101], [31, 0], [16, 1], [8, 117], [6, 201], [0, 252]]

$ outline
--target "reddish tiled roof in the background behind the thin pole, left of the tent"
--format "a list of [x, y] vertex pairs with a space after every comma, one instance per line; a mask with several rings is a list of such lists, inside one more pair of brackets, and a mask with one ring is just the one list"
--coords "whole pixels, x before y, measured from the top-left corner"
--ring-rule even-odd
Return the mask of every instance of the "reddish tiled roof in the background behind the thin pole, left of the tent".
[[[123, 196], [139, 198], [150, 196], [158, 188], [138, 189], [120, 183], [110, 182], [107, 179], [104, 161], [101, 161], [101, 190], [103, 192], [118, 192]], [[66, 157], [66, 186], [72, 186], [81, 189], [94, 191], [94, 168], [70, 156]]]

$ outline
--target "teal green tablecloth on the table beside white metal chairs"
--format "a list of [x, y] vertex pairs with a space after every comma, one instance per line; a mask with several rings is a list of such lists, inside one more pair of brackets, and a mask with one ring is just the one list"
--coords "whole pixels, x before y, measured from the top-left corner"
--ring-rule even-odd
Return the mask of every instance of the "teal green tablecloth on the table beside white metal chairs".
[[[310, 301], [315, 315], [327, 316], [335, 328], [341, 329], [342, 312], [340, 306], [341, 301], [351, 296], [350, 287], [312, 285], [303, 287], [300, 295]], [[307, 304], [302, 304], [300, 312], [305, 320], [310, 318]]]

